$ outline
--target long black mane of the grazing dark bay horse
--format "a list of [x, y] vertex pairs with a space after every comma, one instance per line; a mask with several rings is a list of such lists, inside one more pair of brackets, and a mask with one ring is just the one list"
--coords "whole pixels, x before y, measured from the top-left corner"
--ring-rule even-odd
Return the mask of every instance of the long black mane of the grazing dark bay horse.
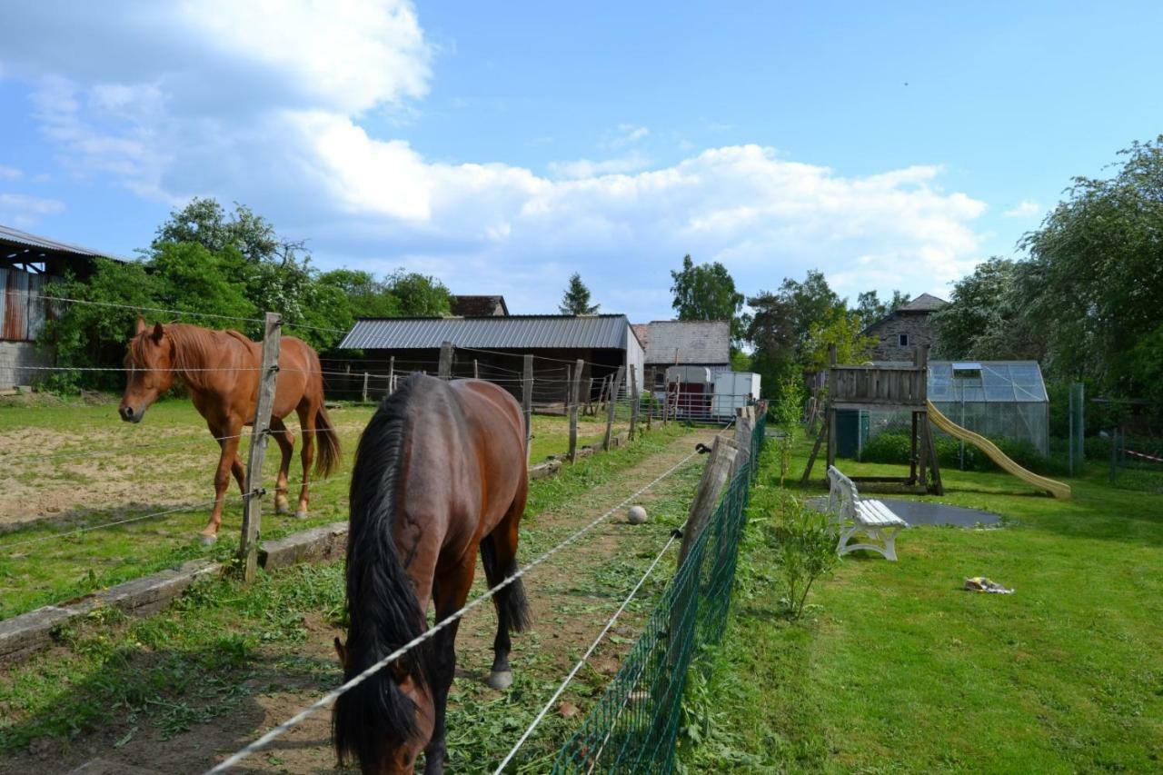
[[[405, 461], [405, 426], [412, 379], [385, 400], [359, 439], [351, 474], [348, 535], [348, 642], [344, 681], [376, 664], [426, 630], [415, 588], [392, 539]], [[427, 691], [430, 649], [421, 644], [393, 664], [340, 695], [333, 716], [335, 751], [364, 772], [383, 761], [387, 740], [416, 733], [416, 708], [398, 681], [412, 677]], [[393, 680], [394, 678], [394, 680]]]

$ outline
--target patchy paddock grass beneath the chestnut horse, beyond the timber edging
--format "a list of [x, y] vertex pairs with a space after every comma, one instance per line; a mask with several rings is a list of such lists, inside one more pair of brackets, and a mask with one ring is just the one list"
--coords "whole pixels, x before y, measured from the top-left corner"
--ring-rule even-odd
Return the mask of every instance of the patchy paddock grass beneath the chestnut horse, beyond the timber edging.
[[[273, 514], [267, 499], [264, 538], [347, 519], [351, 460], [372, 411], [331, 410], [343, 448], [340, 470], [312, 484], [306, 520]], [[295, 421], [288, 426], [298, 429]], [[533, 434], [534, 462], [569, 447], [564, 417], [535, 415]], [[604, 419], [580, 419], [579, 445], [599, 443], [604, 434]], [[243, 460], [247, 443], [244, 438]], [[291, 461], [292, 500], [301, 478], [298, 449]], [[117, 418], [115, 399], [98, 405], [0, 405], [0, 619], [186, 560], [230, 557], [242, 521], [233, 484], [217, 545], [205, 548], [195, 539], [209, 517], [217, 454], [217, 443], [187, 400], [156, 404], [140, 425]], [[271, 445], [267, 488], [278, 457]], [[167, 513], [138, 519], [158, 512]], [[86, 529], [121, 520], [130, 521]]]

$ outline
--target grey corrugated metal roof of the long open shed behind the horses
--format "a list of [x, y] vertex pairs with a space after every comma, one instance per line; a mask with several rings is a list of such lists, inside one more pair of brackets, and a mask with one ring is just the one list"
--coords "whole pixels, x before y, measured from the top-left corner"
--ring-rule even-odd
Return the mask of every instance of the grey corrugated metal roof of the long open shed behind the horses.
[[626, 349], [626, 315], [491, 315], [487, 318], [377, 318], [357, 320], [341, 349], [408, 350], [440, 347], [487, 349]]

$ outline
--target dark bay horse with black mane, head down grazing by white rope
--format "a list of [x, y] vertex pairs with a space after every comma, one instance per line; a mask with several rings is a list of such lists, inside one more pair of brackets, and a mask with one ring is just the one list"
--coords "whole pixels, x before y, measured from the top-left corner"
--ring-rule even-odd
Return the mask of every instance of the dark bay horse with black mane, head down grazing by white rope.
[[[516, 570], [528, 491], [521, 407], [478, 379], [412, 375], [372, 417], [351, 475], [344, 680], [459, 610], [477, 550], [490, 585]], [[488, 683], [507, 689], [509, 631], [528, 626], [521, 581], [501, 589]], [[444, 772], [444, 706], [459, 620], [372, 674], [335, 703], [335, 749], [366, 774]]]

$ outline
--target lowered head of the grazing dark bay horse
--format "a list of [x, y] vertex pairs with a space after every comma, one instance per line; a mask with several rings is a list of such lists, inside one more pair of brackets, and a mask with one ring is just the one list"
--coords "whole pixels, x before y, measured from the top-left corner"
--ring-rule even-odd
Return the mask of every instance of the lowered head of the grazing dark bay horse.
[[[354, 673], [348, 660], [348, 650], [343, 641], [335, 639], [335, 653], [340, 656], [343, 673], [351, 678]], [[362, 772], [374, 775], [411, 775], [416, 765], [416, 756], [424, 749], [433, 737], [436, 708], [427, 683], [418, 680], [409, 656], [405, 654], [381, 670], [384, 681], [391, 687], [386, 692], [394, 697], [387, 718], [387, 728], [376, 730], [376, 739], [361, 740], [355, 746]], [[369, 689], [372, 680], [364, 683]], [[341, 759], [343, 752], [341, 752]]]

